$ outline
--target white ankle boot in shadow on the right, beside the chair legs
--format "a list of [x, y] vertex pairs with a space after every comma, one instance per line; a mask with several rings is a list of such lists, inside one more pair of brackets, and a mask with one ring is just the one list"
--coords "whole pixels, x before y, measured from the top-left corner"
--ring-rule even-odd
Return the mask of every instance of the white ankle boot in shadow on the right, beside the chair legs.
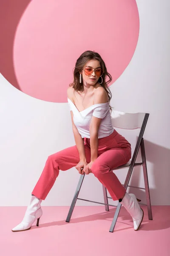
[[142, 223], [144, 212], [139, 206], [136, 196], [126, 192], [122, 202], [120, 203], [125, 207], [127, 212], [130, 213], [133, 219], [134, 230], [138, 230]]

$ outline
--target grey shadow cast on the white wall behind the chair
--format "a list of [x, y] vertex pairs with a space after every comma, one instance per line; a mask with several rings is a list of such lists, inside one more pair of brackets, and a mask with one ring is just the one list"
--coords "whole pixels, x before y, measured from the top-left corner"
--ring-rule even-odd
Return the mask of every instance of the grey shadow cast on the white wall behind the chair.
[[[170, 149], [164, 148], [160, 145], [151, 143], [148, 140], [144, 140], [144, 148], [147, 160], [147, 174], [149, 179], [150, 186], [150, 177], [152, 177], [154, 187], [150, 189], [150, 201], [151, 205], [155, 203], [152, 201], [152, 198], [156, 198], [157, 201], [161, 201], [161, 205], [170, 204]], [[136, 162], [139, 162], [140, 159], [140, 150]], [[150, 162], [152, 170], [149, 169]], [[142, 167], [136, 166], [133, 169], [132, 176], [130, 178], [129, 185], [140, 186], [140, 175], [139, 172], [142, 170]], [[142, 170], [143, 174], [143, 170]], [[143, 179], [143, 175], [142, 175]], [[144, 180], [144, 179], [143, 179]], [[129, 188], [130, 193], [134, 193], [138, 198], [142, 199], [142, 203], [146, 204], [145, 190]], [[166, 198], [169, 198], [169, 201], [166, 201], [164, 198], [161, 198], [161, 195], [168, 194]]]

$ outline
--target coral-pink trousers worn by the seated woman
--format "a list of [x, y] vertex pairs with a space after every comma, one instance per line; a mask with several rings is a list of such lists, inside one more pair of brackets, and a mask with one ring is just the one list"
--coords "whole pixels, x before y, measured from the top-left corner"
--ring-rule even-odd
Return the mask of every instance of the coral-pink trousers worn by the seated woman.
[[[84, 138], [84, 141], [86, 161], [90, 163], [90, 139]], [[113, 200], [119, 200], [119, 198], [123, 198], [126, 190], [112, 169], [130, 160], [130, 143], [116, 130], [111, 135], [98, 139], [98, 141], [98, 157], [91, 166], [91, 172], [108, 189]], [[59, 170], [66, 171], [76, 166], [77, 163], [79, 163], [79, 152], [76, 145], [50, 155], [32, 194], [45, 200], [59, 175]]]

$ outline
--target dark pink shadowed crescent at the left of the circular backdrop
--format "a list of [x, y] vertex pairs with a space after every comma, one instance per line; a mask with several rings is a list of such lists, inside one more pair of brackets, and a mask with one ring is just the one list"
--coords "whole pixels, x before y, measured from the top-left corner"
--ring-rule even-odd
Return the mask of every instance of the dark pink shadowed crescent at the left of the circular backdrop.
[[6, 0], [0, 2], [0, 72], [20, 90], [13, 64], [13, 45], [17, 25], [31, 0]]

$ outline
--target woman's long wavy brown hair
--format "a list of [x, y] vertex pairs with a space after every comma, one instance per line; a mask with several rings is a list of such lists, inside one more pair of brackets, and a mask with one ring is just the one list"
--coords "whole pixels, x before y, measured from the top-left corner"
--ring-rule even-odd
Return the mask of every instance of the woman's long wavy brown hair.
[[[108, 84], [112, 81], [111, 74], [108, 73], [105, 62], [103, 61], [102, 57], [99, 55], [99, 53], [94, 51], [85, 51], [83, 52], [79, 58], [76, 61], [76, 65], [74, 67], [74, 81], [69, 84], [69, 86], [72, 86], [74, 90], [77, 92], [83, 92], [84, 87], [83, 84], [79, 82], [79, 71], [82, 72], [82, 68], [85, 66], [85, 64], [90, 60], [98, 60], [100, 62], [100, 65], [102, 67], [102, 70], [104, 71], [102, 78], [103, 82], [101, 86], [105, 89], [106, 93], [108, 94], [109, 102], [111, 101], [112, 93], [111, 90], [108, 87]], [[106, 81], [106, 76], [108, 76], [109, 80]], [[100, 78], [99, 78], [100, 79]], [[102, 79], [101, 79], [102, 80]], [[110, 110], [112, 111], [112, 107], [110, 106]]]

